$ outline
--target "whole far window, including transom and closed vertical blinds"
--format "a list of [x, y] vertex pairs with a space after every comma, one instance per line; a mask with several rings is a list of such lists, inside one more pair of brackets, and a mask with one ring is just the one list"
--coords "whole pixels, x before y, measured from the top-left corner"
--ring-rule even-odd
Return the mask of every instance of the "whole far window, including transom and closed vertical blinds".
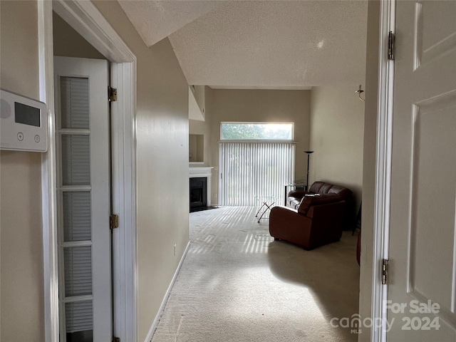
[[220, 133], [219, 204], [281, 202], [284, 184], [294, 179], [294, 124], [222, 123]]

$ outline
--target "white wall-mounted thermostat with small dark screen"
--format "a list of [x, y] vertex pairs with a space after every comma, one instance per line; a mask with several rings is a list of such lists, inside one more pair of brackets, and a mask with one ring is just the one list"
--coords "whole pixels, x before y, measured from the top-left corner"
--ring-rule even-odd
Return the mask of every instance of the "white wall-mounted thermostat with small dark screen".
[[46, 152], [48, 115], [46, 104], [0, 90], [1, 150]]

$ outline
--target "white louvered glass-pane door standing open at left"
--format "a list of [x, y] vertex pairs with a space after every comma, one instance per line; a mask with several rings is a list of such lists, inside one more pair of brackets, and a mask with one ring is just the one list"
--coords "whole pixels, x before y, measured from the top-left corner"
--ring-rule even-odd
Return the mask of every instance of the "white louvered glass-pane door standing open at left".
[[54, 58], [60, 341], [110, 341], [108, 61]]

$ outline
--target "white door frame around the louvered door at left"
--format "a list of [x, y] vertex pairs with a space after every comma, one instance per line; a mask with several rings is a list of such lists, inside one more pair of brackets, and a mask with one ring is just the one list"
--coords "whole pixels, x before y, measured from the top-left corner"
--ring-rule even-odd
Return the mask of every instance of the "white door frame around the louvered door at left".
[[52, 11], [111, 62], [111, 84], [118, 89], [113, 113], [113, 207], [119, 229], [113, 232], [114, 333], [136, 341], [136, 56], [91, 1], [38, 1], [40, 100], [48, 105], [48, 151], [41, 158], [45, 340], [58, 342], [58, 264], [56, 200], [56, 127], [53, 85]]

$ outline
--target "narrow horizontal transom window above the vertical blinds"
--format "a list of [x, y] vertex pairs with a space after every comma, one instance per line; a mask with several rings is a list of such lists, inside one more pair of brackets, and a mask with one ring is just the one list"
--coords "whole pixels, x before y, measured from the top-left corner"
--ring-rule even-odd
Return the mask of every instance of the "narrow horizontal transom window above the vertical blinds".
[[222, 123], [221, 140], [293, 140], [293, 123]]

